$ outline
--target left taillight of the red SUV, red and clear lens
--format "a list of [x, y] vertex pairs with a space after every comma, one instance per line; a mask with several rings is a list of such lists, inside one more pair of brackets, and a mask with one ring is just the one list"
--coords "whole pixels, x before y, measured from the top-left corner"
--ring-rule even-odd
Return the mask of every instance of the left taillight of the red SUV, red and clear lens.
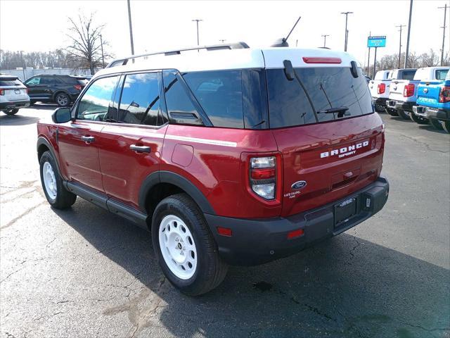
[[263, 199], [275, 199], [275, 156], [250, 158], [250, 186], [252, 191]]

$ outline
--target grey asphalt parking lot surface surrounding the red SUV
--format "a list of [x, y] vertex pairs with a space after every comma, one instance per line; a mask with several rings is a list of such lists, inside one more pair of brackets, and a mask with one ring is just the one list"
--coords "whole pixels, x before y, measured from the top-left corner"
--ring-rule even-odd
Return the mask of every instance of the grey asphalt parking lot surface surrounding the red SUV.
[[189, 298], [147, 232], [79, 198], [49, 207], [35, 124], [53, 108], [0, 114], [0, 337], [450, 337], [449, 134], [383, 114], [383, 211]]

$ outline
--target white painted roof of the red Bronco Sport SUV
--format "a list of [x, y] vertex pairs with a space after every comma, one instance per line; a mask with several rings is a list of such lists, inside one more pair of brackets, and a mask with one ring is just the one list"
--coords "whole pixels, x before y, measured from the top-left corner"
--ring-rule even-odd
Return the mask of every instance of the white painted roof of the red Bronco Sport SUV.
[[[340, 58], [341, 63], [305, 63], [303, 57]], [[343, 51], [330, 49], [300, 49], [272, 47], [266, 49], [220, 49], [216, 51], [188, 51], [165, 56], [158, 54], [146, 58], [131, 59], [127, 65], [105, 68], [96, 77], [105, 74], [123, 73], [139, 70], [176, 69], [180, 72], [205, 70], [232, 70], [245, 68], [284, 68], [283, 61], [290, 60], [293, 67], [350, 67], [356, 59]]]

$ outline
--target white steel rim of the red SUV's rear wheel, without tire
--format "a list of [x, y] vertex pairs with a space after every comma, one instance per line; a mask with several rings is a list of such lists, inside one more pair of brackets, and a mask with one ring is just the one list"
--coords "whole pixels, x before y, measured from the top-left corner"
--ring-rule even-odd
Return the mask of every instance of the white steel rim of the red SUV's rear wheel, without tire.
[[170, 271], [181, 280], [193, 277], [197, 268], [197, 249], [191, 231], [181, 218], [175, 215], [162, 218], [159, 242]]

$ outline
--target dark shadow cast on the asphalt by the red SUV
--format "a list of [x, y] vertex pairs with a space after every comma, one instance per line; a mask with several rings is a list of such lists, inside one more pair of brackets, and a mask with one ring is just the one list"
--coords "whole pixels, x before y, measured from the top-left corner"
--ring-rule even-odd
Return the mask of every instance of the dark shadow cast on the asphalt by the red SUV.
[[[351, 234], [231, 267], [217, 289], [190, 298], [165, 280], [148, 232], [82, 199], [55, 212], [148, 287], [103, 312], [127, 314], [135, 337], [153, 325], [177, 337], [449, 337], [449, 270]], [[158, 314], [143, 306], [153, 293], [163, 300]]]

